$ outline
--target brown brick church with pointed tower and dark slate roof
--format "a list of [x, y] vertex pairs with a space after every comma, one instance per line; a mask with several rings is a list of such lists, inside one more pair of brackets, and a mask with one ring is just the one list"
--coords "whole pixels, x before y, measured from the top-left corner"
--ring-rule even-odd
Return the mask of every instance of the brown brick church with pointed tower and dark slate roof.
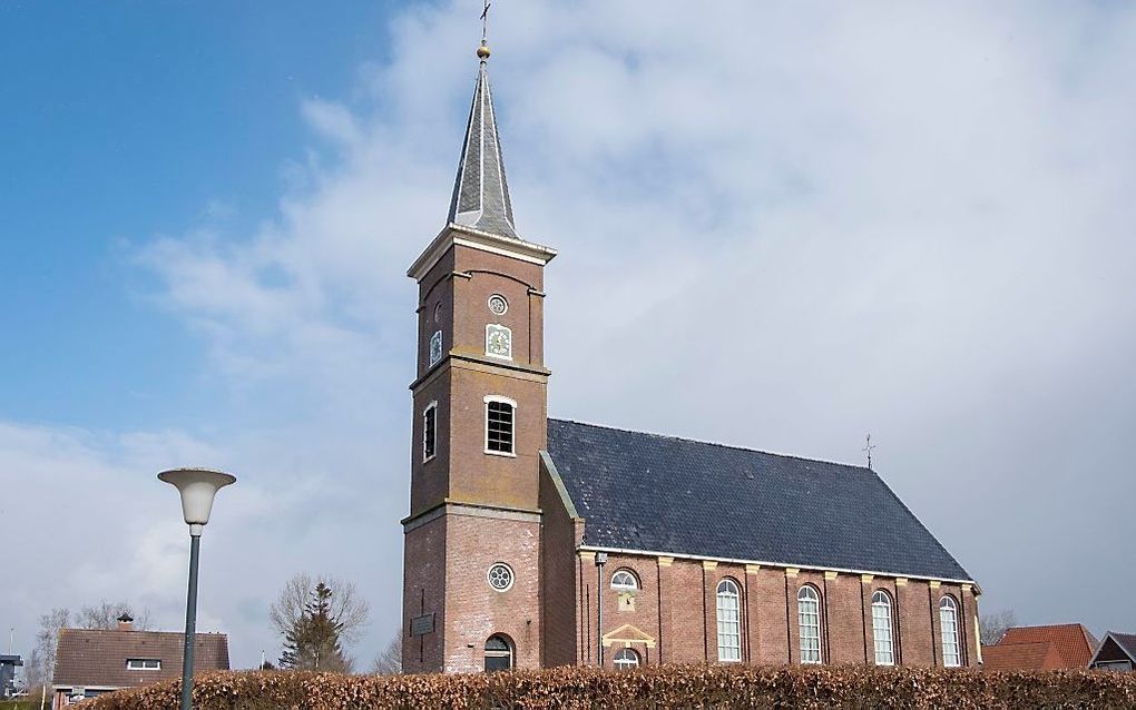
[[407, 673], [980, 662], [979, 590], [872, 470], [552, 419], [549, 247], [481, 67], [418, 282]]

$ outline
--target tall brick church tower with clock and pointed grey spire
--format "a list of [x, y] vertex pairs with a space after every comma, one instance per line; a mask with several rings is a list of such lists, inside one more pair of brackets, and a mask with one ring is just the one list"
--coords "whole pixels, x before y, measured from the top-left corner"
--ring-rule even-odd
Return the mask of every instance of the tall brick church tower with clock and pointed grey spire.
[[446, 224], [407, 273], [418, 282], [407, 673], [540, 665], [543, 270], [556, 251], [517, 234], [488, 56], [483, 41]]

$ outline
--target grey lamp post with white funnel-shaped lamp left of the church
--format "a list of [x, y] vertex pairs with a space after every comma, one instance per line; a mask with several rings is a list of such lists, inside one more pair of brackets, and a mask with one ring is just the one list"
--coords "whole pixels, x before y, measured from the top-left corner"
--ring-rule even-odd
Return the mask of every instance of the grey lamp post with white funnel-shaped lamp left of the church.
[[182, 708], [193, 707], [193, 642], [198, 625], [198, 556], [201, 532], [209, 523], [217, 491], [236, 483], [236, 476], [203, 468], [175, 468], [158, 474], [182, 495], [182, 513], [190, 526], [190, 591], [185, 599], [185, 652], [182, 657]]

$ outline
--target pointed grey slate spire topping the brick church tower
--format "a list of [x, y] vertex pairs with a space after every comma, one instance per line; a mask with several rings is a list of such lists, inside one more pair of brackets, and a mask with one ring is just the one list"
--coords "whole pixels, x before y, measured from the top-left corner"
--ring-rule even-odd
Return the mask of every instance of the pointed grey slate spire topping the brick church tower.
[[519, 240], [512, 222], [512, 202], [504, 177], [501, 139], [486, 64], [490, 48], [482, 41], [477, 48], [481, 67], [474, 86], [474, 105], [469, 109], [466, 140], [453, 183], [449, 222], [499, 236]]

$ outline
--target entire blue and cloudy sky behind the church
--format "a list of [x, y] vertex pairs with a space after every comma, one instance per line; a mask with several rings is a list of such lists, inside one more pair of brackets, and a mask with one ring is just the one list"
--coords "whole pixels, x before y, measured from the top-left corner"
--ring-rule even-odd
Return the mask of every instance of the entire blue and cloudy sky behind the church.
[[[199, 630], [301, 571], [396, 633], [415, 284], [481, 2], [0, 3], [0, 627]], [[1136, 7], [498, 0], [553, 416], [862, 462], [983, 612], [1136, 630]], [[817, 525], [824, 525], [818, 520]], [[864, 521], [870, 525], [870, 520]]]

